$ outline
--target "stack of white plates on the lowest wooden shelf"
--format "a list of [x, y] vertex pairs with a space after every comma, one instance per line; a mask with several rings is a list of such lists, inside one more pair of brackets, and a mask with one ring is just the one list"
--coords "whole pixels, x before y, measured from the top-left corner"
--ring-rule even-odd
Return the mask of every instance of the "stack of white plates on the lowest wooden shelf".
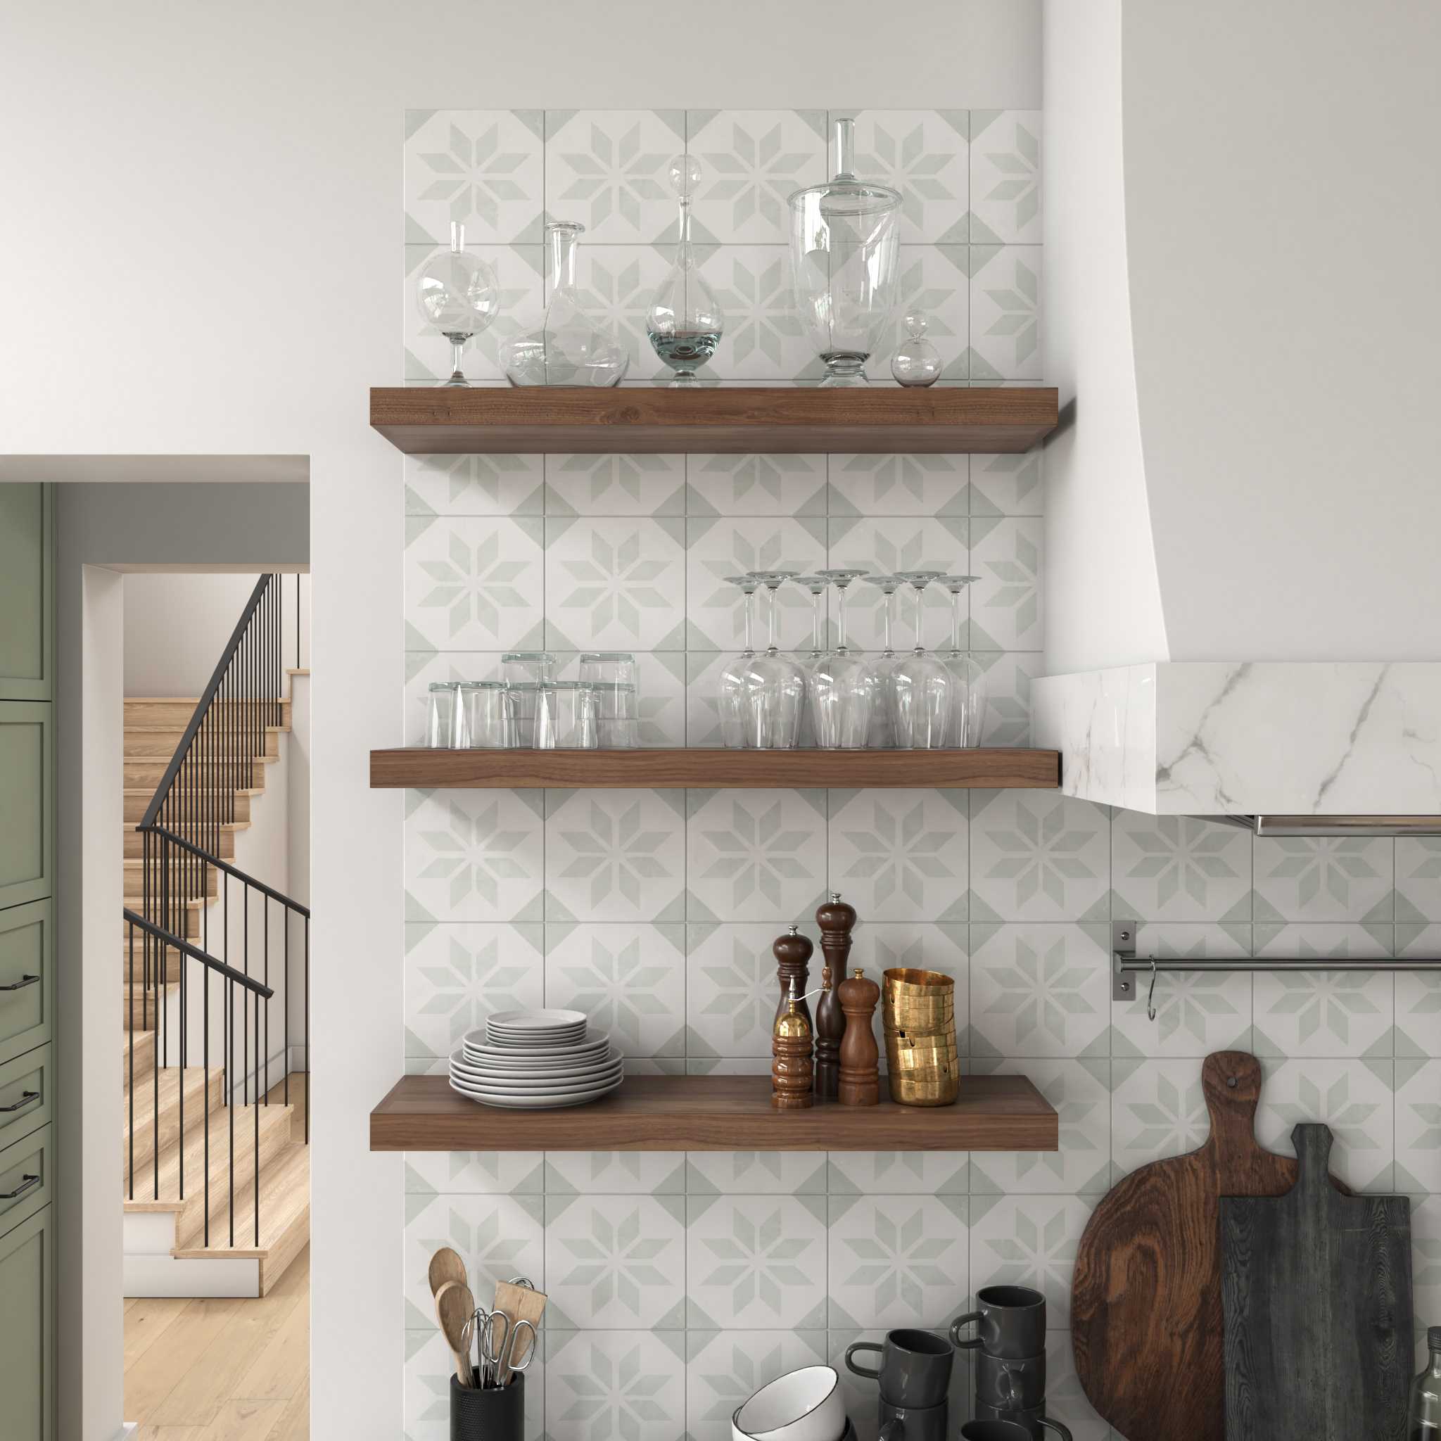
[[451, 1089], [512, 1110], [584, 1105], [614, 1091], [625, 1058], [578, 1010], [507, 1010], [465, 1033], [451, 1055]]

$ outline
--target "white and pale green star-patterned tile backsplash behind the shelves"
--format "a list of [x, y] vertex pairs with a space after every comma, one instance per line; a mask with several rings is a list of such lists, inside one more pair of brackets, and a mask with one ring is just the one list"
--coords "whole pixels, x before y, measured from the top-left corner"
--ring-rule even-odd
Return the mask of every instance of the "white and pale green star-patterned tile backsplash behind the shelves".
[[[905, 275], [958, 380], [1039, 379], [1039, 115], [853, 111], [859, 169], [906, 195]], [[406, 275], [464, 220], [506, 313], [542, 303], [545, 215], [588, 226], [582, 280], [631, 336], [669, 264], [664, 173], [706, 167], [695, 223], [725, 293], [722, 380], [814, 375], [790, 313], [785, 195], [827, 173], [820, 111], [422, 111], [405, 151]], [[406, 278], [409, 287], [409, 278]], [[405, 379], [445, 366], [409, 317]], [[402, 523], [398, 517], [398, 523]], [[650, 745], [716, 739], [715, 676], [741, 635], [723, 576], [784, 565], [935, 563], [981, 579], [964, 621], [990, 677], [987, 739], [1029, 741], [1043, 612], [1040, 455], [437, 455], [405, 461], [405, 738], [425, 686], [484, 679], [500, 651], [635, 651]], [[860, 588], [852, 634], [879, 646]], [[932, 643], [947, 598], [927, 605]], [[833, 621], [831, 621], [833, 623]], [[787, 598], [781, 644], [810, 644]], [[898, 640], [911, 635], [909, 607]], [[405, 1164], [405, 1425], [442, 1441], [447, 1353], [425, 1262], [457, 1246], [481, 1284], [550, 1295], [527, 1431], [552, 1441], [710, 1441], [782, 1369], [840, 1360], [893, 1324], [940, 1326], [990, 1281], [1050, 1300], [1052, 1409], [1107, 1428], [1075, 1382], [1069, 1277], [1091, 1208], [1206, 1127], [1199, 1063], [1264, 1059], [1262, 1138], [1336, 1131], [1353, 1186], [1414, 1196], [1419, 1319], [1441, 1320], [1441, 984], [1412, 974], [1169, 976], [1157, 1017], [1112, 1006], [1108, 922], [1143, 950], [1376, 955], [1441, 947], [1441, 843], [1252, 840], [1200, 820], [1035, 791], [435, 791], [405, 816], [405, 1053], [442, 1071], [490, 1009], [574, 1004], [635, 1071], [768, 1063], [771, 940], [831, 889], [856, 958], [957, 980], [973, 1072], [1025, 1072], [1061, 1115], [1055, 1154], [411, 1154]], [[967, 1405], [958, 1357], [957, 1414]], [[862, 1441], [873, 1392], [846, 1380]], [[1131, 1438], [1138, 1441], [1138, 1438]]]

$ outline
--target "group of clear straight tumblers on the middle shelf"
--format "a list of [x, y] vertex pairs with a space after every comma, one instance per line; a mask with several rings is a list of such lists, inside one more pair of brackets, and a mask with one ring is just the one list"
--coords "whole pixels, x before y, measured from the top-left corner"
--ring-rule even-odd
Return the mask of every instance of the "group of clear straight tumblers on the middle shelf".
[[549, 651], [500, 657], [499, 680], [438, 680], [427, 695], [425, 744], [452, 751], [620, 749], [640, 744], [635, 657], [586, 651], [575, 680]]

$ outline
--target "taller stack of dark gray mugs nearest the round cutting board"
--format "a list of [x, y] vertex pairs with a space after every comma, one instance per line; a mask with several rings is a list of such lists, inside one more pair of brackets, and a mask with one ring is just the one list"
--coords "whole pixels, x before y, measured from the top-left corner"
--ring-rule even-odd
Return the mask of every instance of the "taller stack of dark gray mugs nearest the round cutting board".
[[[1039, 1441], [1071, 1432], [1046, 1415], [1046, 1298], [1026, 1285], [987, 1285], [977, 1308], [951, 1323], [951, 1342], [976, 1352], [976, 1419], [967, 1441]], [[967, 1326], [974, 1336], [964, 1336]]]

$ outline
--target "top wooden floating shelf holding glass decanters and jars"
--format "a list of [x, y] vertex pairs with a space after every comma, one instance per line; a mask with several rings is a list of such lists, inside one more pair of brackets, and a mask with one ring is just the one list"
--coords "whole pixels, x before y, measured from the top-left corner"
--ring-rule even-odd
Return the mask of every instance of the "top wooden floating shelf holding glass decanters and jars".
[[389, 386], [370, 425], [406, 455], [1001, 454], [1039, 444], [1056, 406], [1052, 386]]

